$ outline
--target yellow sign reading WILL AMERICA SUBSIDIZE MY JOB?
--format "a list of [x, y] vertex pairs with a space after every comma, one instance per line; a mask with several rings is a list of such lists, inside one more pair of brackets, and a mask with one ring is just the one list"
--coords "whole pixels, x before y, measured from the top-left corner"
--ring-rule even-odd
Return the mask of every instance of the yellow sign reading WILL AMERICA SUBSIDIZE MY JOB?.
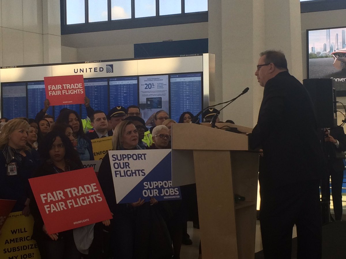
[[33, 234], [34, 218], [25, 217], [21, 211], [12, 212], [1, 229], [1, 259], [40, 259]]

